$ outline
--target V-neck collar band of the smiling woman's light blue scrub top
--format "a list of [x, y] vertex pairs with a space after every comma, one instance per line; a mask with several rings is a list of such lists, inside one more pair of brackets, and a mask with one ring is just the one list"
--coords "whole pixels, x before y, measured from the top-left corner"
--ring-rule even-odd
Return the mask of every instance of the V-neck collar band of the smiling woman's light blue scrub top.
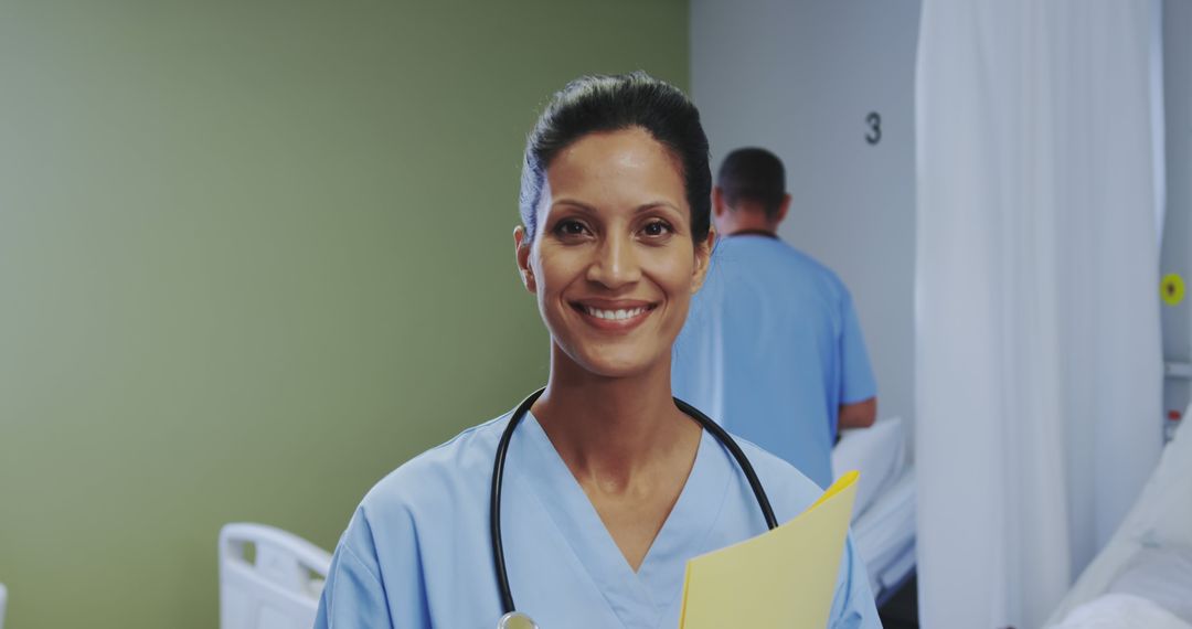
[[[716, 456], [715, 437], [700, 436], [695, 462], [675, 506], [638, 572], [633, 572], [579, 481], [532, 413], [516, 431], [520, 448], [540, 466], [519, 466], [601, 594], [625, 627], [653, 628], [682, 592], [685, 559], [704, 542], [719, 517], [731, 475]], [[516, 436], [515, 435], [515, 436]], [[533, 453], [533, 454], [532, 454]], [[532, 469], [541, 473], [529, 474]], [[648, 618], [642, 623], [641, 619]]]

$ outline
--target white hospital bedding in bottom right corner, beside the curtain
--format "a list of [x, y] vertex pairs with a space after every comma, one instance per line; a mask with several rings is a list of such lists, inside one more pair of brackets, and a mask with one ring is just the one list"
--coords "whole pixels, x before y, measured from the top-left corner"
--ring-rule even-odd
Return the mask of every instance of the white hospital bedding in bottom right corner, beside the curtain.
[[1192, 629], [1192, 431], [1182, 423], [1049, 628]]

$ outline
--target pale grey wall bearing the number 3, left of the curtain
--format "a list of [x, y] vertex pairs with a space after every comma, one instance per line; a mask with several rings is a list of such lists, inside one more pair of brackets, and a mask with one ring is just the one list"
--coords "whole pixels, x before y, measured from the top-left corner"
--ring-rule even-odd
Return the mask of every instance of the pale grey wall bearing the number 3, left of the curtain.
[[[857, 304], [881, 416], [914, 417], [914, 61], [919, 0], [691, 1], [691, 86], [712, 141], [768, 148], [780, 233]], [[881, 114], [877, 144], [865, 118]]]

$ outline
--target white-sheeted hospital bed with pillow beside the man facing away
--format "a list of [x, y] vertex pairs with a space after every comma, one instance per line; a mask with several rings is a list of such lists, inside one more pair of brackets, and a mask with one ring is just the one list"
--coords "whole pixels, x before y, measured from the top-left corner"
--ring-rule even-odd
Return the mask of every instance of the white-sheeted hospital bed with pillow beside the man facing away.
[[904, 422], [892, 417], [844, 431], [832, 469], [861, 472], [852, 507], [852, 537], [881, 605], [914, 573], [914, 466]]

